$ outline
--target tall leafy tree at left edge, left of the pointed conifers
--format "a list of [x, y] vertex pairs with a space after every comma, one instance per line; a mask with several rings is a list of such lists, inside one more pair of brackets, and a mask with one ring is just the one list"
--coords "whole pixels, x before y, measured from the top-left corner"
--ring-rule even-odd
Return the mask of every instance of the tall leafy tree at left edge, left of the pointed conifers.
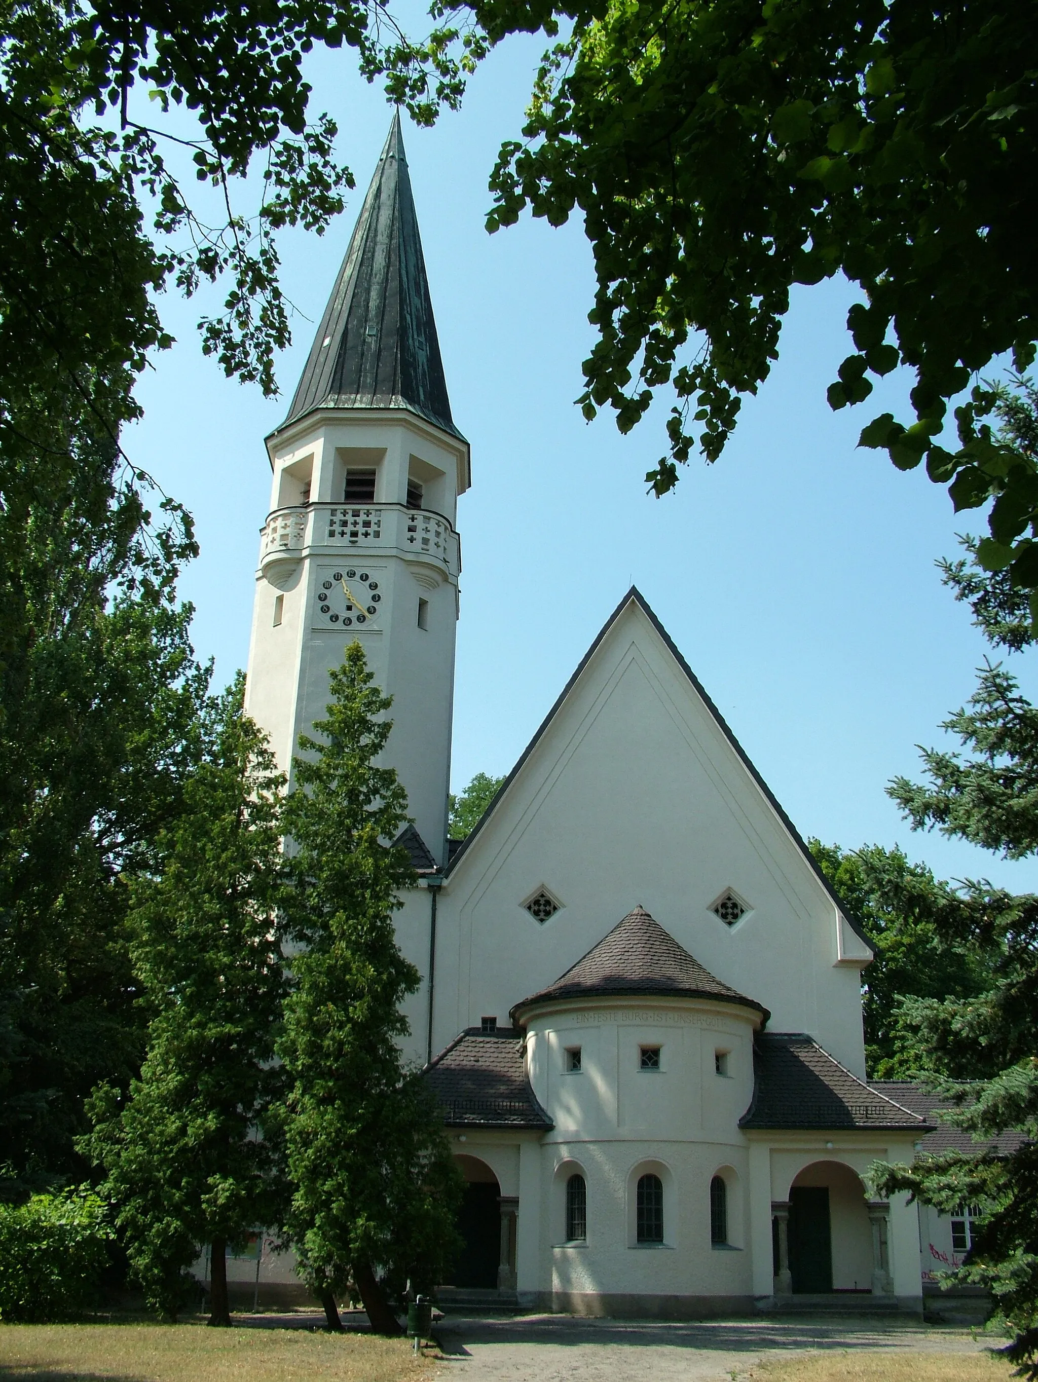
[[140, 1063], [120, 876], [177, 810], [209, 683], [174, 591], [189, 524], [70, 441], [59, 395], [47, 428], [46, 478], [0, 503], [0, 1198], [82, 1180], [83, 1099]]

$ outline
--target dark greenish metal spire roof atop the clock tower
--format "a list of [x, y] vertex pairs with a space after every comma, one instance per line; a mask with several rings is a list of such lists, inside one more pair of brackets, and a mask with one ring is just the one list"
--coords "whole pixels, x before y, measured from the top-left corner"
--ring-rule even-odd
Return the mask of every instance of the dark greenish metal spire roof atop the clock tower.
[[315, 408], [406, 408], [462, 438], [446, 397], [399, 112], [282, 427]]

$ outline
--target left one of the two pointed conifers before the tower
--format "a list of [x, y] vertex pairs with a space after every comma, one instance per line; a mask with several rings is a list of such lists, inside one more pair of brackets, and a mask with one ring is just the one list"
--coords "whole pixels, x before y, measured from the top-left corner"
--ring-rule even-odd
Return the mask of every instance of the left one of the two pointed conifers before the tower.
[[182, 810], [130, 884], [130, 954], [152, 1012], [129, 1099], [95, 1092], [84, 1146], [106, 1172], [134, 1274], [176, 1317], [211, 1245], [210, 1324], [229, 1324], [227, 1247], [276, 1224], [283, 1177], [268, 1110], [285, 976], [283, 777], [245, 714], [245, 679], [211, 708]]

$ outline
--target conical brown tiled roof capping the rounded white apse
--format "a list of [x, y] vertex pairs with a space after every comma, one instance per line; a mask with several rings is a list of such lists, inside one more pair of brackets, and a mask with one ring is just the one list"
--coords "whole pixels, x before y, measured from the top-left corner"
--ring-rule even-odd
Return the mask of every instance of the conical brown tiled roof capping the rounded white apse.
[[767, 1020], [767, 1009], [704, 969], [644, 907], [636, 907], [583, 959], [549, 988], [531, 994], [514, 1014], [560, 998], [716, 998], [752, 1007]]

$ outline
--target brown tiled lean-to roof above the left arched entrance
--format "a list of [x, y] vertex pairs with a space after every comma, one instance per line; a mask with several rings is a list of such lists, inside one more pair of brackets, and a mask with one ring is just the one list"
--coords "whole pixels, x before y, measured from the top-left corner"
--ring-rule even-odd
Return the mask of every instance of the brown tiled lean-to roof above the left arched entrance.
[[551, 1119], [527, 1079], [522, 1032], [467, 1027], [426, 1068], [448, 1128], [536, 1128]]

